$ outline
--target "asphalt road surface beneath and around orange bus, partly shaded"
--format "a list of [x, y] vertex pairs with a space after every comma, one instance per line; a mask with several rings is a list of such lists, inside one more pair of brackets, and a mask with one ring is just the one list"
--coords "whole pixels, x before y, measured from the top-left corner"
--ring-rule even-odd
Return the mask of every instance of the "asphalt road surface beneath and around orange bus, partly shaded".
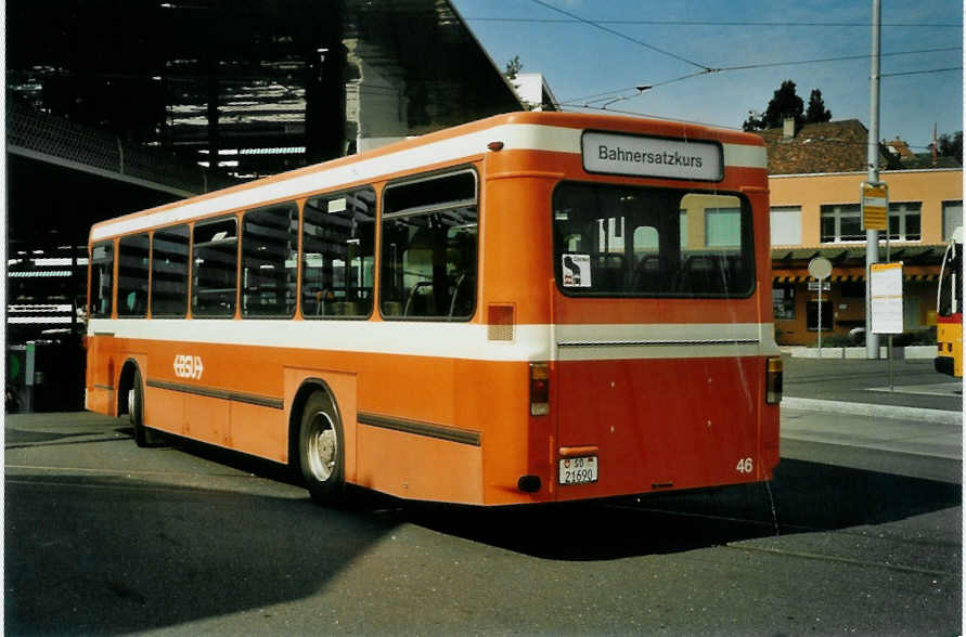
[[790, 440], [769, 485], [333, 510], [272, 465], [130, 433], [8, 417], [7, 634], [962, 629], [955, 458]]

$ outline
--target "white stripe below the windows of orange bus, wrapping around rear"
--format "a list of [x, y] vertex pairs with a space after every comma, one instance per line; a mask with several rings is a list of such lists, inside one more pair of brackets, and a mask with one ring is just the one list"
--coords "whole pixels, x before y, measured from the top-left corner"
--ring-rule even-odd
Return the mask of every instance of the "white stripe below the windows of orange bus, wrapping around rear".
[[777, 354], [772, 323], [516, 325], [514, 340], [476, 323], [93, 318], [88, 334], [224, 346], [350, 351], [474, 361], [595, 361]]

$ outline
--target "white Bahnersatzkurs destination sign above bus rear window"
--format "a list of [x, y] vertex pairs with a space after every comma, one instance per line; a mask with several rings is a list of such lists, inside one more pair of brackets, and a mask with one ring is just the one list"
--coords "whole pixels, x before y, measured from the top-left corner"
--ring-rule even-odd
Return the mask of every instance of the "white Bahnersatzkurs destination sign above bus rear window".
[[588, 172], [721, 181], [721, 145], [588, 131], [581, 151]]

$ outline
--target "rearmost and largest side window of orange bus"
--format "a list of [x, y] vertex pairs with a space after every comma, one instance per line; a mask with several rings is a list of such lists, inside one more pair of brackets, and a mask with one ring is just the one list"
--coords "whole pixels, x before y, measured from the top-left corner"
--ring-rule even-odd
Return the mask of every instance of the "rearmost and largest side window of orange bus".
[[381, 311], [466, 321], [476, 310], [476, 173], [390, 185], [383, 203]]

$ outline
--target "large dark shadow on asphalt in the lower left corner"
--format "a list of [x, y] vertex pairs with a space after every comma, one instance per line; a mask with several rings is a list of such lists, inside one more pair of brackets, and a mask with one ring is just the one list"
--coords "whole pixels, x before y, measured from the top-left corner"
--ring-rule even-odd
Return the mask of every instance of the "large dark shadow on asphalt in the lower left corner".
[[242, 611], [269, 618], [274, 604], [318, 595], [394, 529], [308, 497], [51, 473], [8, 477], [5, 511], [12, 635], [121, 635]]

